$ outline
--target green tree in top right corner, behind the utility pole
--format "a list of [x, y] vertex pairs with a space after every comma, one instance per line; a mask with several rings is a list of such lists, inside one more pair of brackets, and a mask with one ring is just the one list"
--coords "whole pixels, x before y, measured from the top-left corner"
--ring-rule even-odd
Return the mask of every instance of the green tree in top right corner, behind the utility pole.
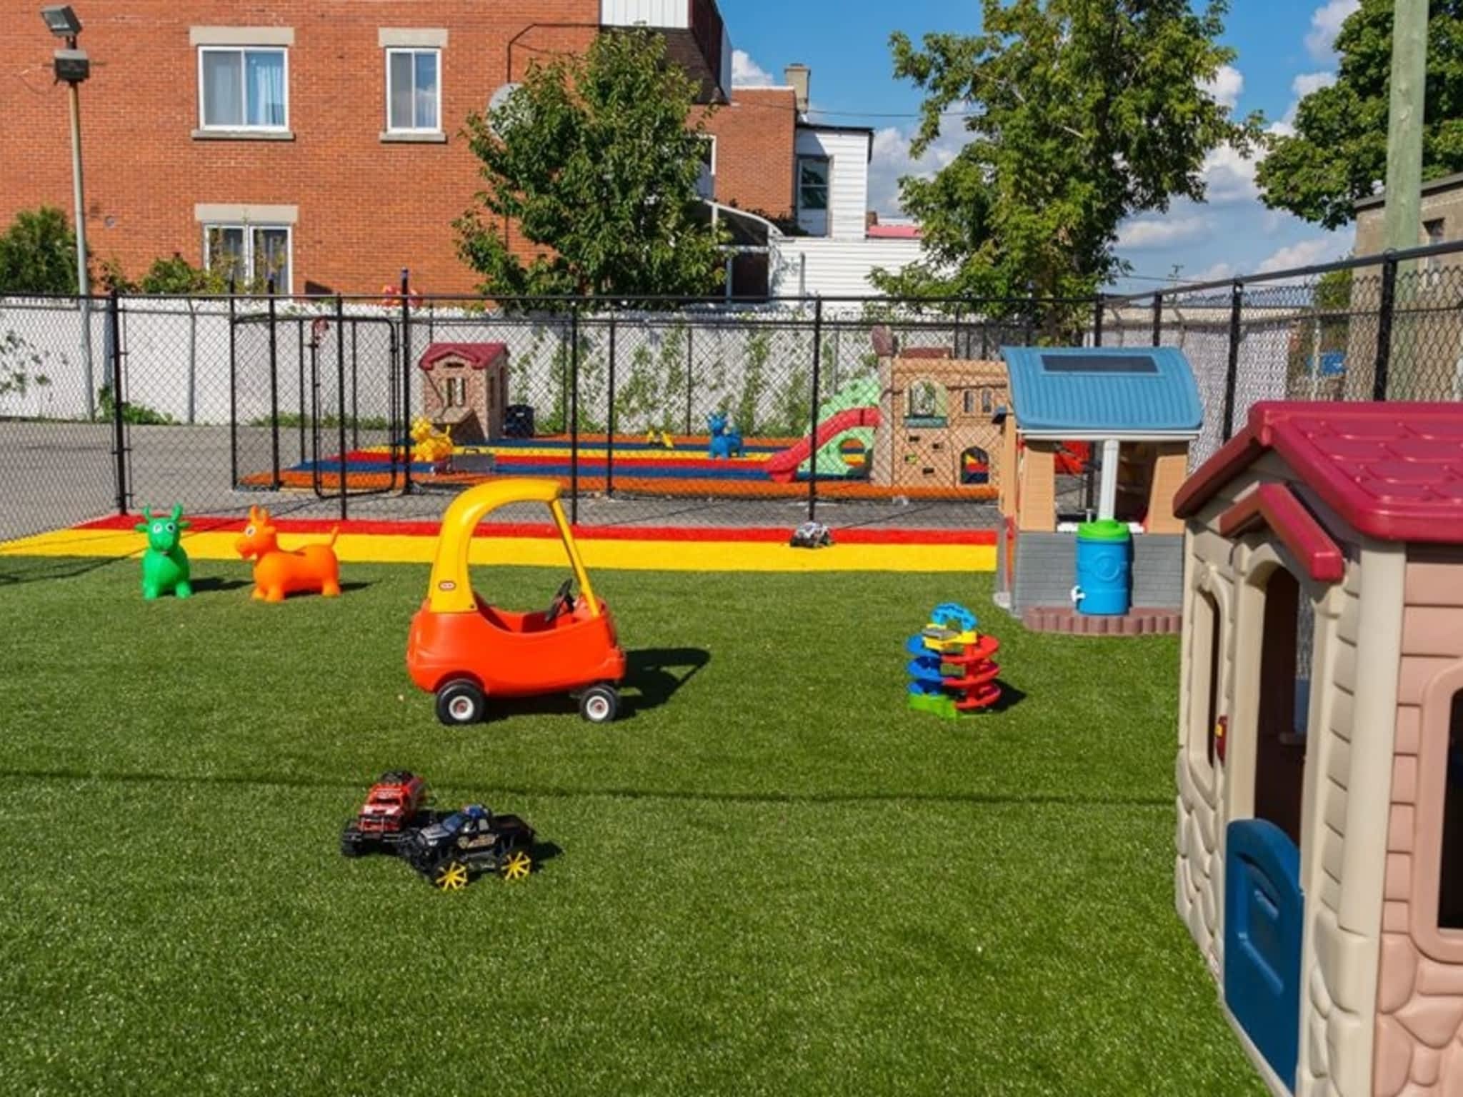
[[[1271, 209], [1337, 228], [1387, 177], [1391, 9], [1393, 0], [1362, 0], [1336, 38], [1336, 83], [1301, 99], [1293, 135], [1270, 139], [1255, 178]], [[1432, 0], [1428, 10], [1423, 180], [1463, 171], [1463, 0]]]

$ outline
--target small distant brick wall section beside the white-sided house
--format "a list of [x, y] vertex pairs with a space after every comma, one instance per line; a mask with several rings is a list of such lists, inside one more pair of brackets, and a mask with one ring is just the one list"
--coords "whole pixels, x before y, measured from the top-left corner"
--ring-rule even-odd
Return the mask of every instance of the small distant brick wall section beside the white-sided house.
[[715, 199], [770, 216], [793, 209], [791, 88], [737, 88], [707, 123], [717, 137]]

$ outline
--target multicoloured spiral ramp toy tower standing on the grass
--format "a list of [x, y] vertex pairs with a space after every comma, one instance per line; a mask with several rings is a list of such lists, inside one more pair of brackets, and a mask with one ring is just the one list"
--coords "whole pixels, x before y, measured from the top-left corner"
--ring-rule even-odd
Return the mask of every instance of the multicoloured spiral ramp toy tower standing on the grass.
[[1001, 698], [1001, 667], [990, 661], [1001, 644], [977, 632], [976, 625], [976, 614], [947, 601], [929, 614], [929, 625], [904, 642], [904, 651], [914, 657], [906, 667], [910, 708], [957, 720]]

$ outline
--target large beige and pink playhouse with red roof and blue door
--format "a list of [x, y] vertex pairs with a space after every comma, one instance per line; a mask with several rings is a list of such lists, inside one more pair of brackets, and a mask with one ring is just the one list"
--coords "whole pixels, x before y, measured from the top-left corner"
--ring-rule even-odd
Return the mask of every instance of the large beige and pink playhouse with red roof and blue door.
[[1274, 1093], [1463, 1094], [1463, 405], [1258, 404], [1182, 487], [1176, 904]]

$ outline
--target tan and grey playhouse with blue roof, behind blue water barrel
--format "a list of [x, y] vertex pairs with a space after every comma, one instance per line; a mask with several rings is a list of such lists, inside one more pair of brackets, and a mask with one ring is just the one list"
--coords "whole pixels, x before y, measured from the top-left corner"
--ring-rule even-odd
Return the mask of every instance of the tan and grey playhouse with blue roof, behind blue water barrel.
[[[1042, 632], [1178, 632], [1184, 522], [1173, 497], [1204, 418], [1173, 347], [1004, 347], [996, 604]], [[1077, 531], [1131, 531], [1131, 608], [1078, 611]]]

